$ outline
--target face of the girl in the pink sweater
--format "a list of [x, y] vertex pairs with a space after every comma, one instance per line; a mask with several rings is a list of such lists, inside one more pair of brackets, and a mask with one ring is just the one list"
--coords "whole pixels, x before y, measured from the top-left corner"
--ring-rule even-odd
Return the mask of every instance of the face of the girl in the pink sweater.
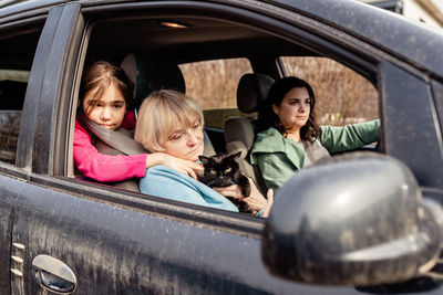
[[126, 114], [126, 102], [122, 92], [114, 85], [107, 87], [100, 99], [93, 99], [97, 88], [86, 93], [83, 98], [83, 110], [86, 116], [102, 125], [103, 127], [115, 130], [122, 123]]

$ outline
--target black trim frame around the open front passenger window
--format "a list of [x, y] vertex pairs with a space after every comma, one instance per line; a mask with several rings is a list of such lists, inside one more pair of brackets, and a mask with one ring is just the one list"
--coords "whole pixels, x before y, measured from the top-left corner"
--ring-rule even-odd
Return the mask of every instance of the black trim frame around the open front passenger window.
[[[106, 2], [106, 1], [105, 1]], [[83, 3], [82, 3], [83, 4]], [[210, 10], [209, 10], [210, 8]], [[260, 8], [261, 9], [261, 8]], [[124, 13], [132, 14], [143, 14], [150, 11], [162, 10], [167, 11], [168, 15], [181, 15], [182, 13], [187, 12], [186, 15], [199, 15], [203, 12], [207, 13], [210, 11], [210, 15], [208, 18], [214, 19], [223, 19], [229, 20], [231, 22], [241, 23], [243, 25], [250, 25], [256, 28], [257, 30], [261, 30], [267, 33], [279, 35], [284, 39], [290, 39], [291, 42], [298, 42], [303, 44], [309, 49], [315, 48], [316, 44], [319, 44], [321, 52], [328, 52], [328, 57], [331, 57], [346, 66], [354, 70], [358, 73], [363, 73], [363, 76], [368, 77], [368, 73], [371, 73], [371, 78], [378, 76], [379, 69], [378, 64], [383, 60], [384, 53], [374, 49], [373, 46], [356, 39], [354, 36], [348, 35], [347, 33], [340, 32], [334, 28], [327, 27], [326, 24], [321, 24], [320, 29], [315, 27], [313, 24], [318, 24], [312, 19], [308, 19], [307, 17], [302, 17], [296, 12], [288, 12], [284, 15], [281, 20], [272, 19], [269, 17], [268, 12], [265, 12], [262, 9], [260, 13], [254, 11], [246, 10], [233, 10], [233, 7], [225, 6], [222, 3], [195, 3], [187, 1], [164, 1], [164, 2], [136, 2], [136, 3], [109, 3], [107, 6], [100, 6], [100, 3], [93, 4], [90, 2], [85, 2], [81, 8], [79, 19], [83, 19], [83, 23], [87, 23], [90, 21], [95, 20], [96, 18], [112, 18], [115, 14]], [[193, 12], [190, 12], [193, 11]], [[190, 13], [190, 14], [189, 14]], [[287, 28], [287, 21], [290, 15], [297, 15], [297, 18], [292, 18], [291, 22], [296, 22], [295, 27]], [[229, 17], [229, 18], [228, 18]], [[307, 19], [309, 21], [307, 21]], [[306, 24], [308, 22], [311, 27]], [[74, 24], [75, 25], [75, 24]], [[85, 25], [84, 28], [86, 28]], [[308, 28], [308, 29], [307, 29]], [[313, 29], [315, 28], [315, 29]], [[327, 28], [327, 29], [324, 29]], [[321, 30], [322, 29], [322, 30]], [[324, 33], [324, 31], [327, 33]], [[282, 32], [282, 33], [281, 33]], [[320, 33], [321, 32], [321, 33]], [[69, 110], [63, 109], [62, 112], [69, 113], [71, 112], [71, 123], [69, 125], [69, 131], [66, 134], [73, 133], [73, 118], [72, 110], [75, 101], [75, 94], [79, 86], [79, 72], [75, 72], [75, 66], [81, 67], [81, 61], [85, 55], [85, 45], [87, 44], [87, 30], [78, 30], [76, 34], [79, 34], [78, 39], [82, 40], [83, 46], [79, 46], [79, 49], [72, 50], [73, 53], [70, 55], [72, 61], [70, 61], [71, 67], [66, 69], [65, 72], [70, 72], [70, 75], [75, 75], [75, 82], [72, 83], [75, 85], [74, 88], [63, 89], [65, 96], [69, 96], [71, 101], [70, 104], [65, 103], [63, 105], [64, 108], [69, 108]], [[81, 35], [81, 36], [80, 36]], [[340, 35], [340, 39], [336, 39], [337, 35]], [[347, 45], [344, 46], [344, 41], [347, 41]], [[348, 43], [349, 40], [352, 42]], [[363, 46], [362, 44], [365, 44]], [[83, 51], [83, 52], [82, 52]], [[374, 55], [374, 52], [378, 53]], [[74, 66], [75, 65], [75, 66]], [[253, 65], [254, 69], [254, 65]], [[69, 71], [68, 71], [69, 70]], [[68, 95], [68, 93], [70, 95]], [[380, 91], [379, 91], [380, 94]], [[65, 98], [68, 99], [68, 98]], [[60, 112], [60, 109], [59, 109]], [[64, 129], [66, 130], [66, 129]], [[59, 131], [62, 134], [62, 130]], [[72, 145], [71, 137], [59, 137], [55, 146], [65, 147], [63, 151], [59, 150], [59, 155], [55, 155], [58, 160], [52, 162], [64, 164], [64, 168], [62, 170], [54, 169], [54, 179], [56, 180], [44, 180], [43, 182], [51, 182], [51, 186], [56, 186], [61, 189], [75, 188], [73, 193], [79, 196], [87, 196], [87, 198], [94, 198], [102, 201], [111, 201], [121, 206], [131, 206], [135, 209], [148, 210], [153, 213], [166, 214], [169, 218], [179, 218], [181, 220], [192, 221], [192, 222], [202, 222], [204, 224], [208, 224], [210, 226], [220, 225], [225, 230], [237, 229], [243, 233], [253, 234], [258, 236], [257, 233], [262, 229], [264, 221], [260, 219], [256, 219], [254, 217], [245, 217], [238, 213], [229, 213], [223, 212], [222, 210], [209, 209], [209, 208], [200, 208], [192, 204], [185, 204], [181, 202], [174, 202], [172, 200], [158, 199], [150, 196], [142, 196], [138, 193], [122, 191], [119, 189], [114, 189], [111, 187], [106, 187], [104, 185], [94, 185], [91, 182], [82, 182], [74, 179], [66, 179], [66, 166], [68, 166], [68, 156], [65, 155], [66, 146]], [[61, 143], [61, 140], [65, 140], [65, 143]], [[66, 144], [68, 143], [68, 144]], [[42, 181], [44, 178], [37, 177], [35, 180]], [[239, 221], [244, 224], [238, 225]], [[249, 223], [246, 221], [250, 221]], [[257, 222], [258, 221], [258, 222]]]

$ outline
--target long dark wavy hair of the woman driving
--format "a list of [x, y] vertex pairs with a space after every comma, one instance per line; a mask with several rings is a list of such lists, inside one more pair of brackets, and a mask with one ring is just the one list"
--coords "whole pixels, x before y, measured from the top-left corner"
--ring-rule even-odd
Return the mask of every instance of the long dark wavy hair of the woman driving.
[[259, 131], [268, 129], [269, 127], [276, 128], [281, 135], [286, 136], [287, 130], [281, 124], [277, 114], [274, 113], [272, 105], [280, 106], [285, 95], [292, 88], [306, 88], [310, 98], [309, 119], [300, 129], [300, 139], [306, 141], [313, 141], [320, 137], [320, 127], [316, 122], [313, 108], [316, 106], [316, 96], [312, 87], [303, 80], [298, 77], [284, 77], [276, 81], [269, 89], [268, 97], [258, 114], [258, 129]]

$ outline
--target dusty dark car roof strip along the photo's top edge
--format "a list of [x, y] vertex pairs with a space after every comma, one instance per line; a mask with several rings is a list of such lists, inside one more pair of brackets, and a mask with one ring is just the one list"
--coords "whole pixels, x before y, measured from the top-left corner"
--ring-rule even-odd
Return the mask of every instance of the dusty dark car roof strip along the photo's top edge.
[[[202, 0], [200, 2], [204, 2]], [[244, 0], [206, 0], [207, 2], [247, 6]], [[21, 1], [0, 8], [0, 19], [24, 11], [59, 6], [76, 0]], [[116, 2], [80, 0], [82, 4]], [[327, 23], [338, 30], [371, 43], [406, 63], [443, 78], [443, 33], [426, 29], [396, 13], [351, 0], [261, 0]]]

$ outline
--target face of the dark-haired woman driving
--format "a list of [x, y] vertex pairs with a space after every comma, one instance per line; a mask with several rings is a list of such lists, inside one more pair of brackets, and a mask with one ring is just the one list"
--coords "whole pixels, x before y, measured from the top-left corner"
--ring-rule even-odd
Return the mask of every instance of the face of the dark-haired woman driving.
[[272, 105], [281, 124], [288, 133], [300, 130], [309, 119], [311, 98], [305, 87], [291, 88], [281, 101], [280, 105]]

